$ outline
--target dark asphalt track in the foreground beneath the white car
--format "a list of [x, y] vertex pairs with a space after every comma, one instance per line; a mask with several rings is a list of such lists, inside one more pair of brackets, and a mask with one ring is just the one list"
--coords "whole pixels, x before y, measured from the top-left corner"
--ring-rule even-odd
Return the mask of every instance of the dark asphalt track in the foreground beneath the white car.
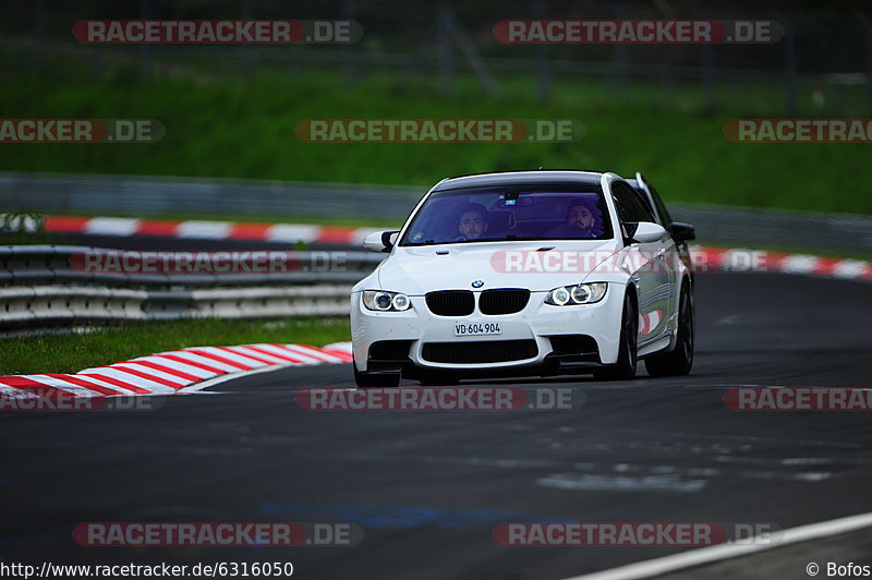
[[[507, 547], [504, 521], [768, 522], [872, 510], [862, 412], [735, 412], [737, 385], [870, 386], [870, 286], [698, 277], [698, 355], [679, 379], [501, 379], [568, 388], [571, 411], [313, 412], [348, 365], [257, 374], [152, 412], [9, 413], [4, 561], [292, 561], [300, 578], [558, 579], [676, 547]], [[471, 383], [473, 384], [473, 383]], [[487, 382], [475, 382], [486, 385]], [[413, 383], [409, 383], [413, 385]], [[82, 521], [340, 521], [343, 547], [82, 547]], [[783, 578], [808, 578], [801, 554]], [[872, 564], [871, 561], [864, 564]], [[758, 568], [744, 578], [763, 577]]]

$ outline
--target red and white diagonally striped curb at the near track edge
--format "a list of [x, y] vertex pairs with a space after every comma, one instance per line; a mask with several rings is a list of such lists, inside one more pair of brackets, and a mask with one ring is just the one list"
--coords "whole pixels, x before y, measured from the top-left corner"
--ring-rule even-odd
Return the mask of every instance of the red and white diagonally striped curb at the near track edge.
[[279, 366], [351, 362], [351, 343], [193, 347], [140, 357], [75, 374], [0, 376], [0, 398], [172, 395], [220, 376]]

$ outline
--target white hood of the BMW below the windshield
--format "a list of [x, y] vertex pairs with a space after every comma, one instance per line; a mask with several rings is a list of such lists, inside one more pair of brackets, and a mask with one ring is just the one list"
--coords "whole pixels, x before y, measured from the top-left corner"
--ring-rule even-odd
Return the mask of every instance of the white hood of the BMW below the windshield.
[[[550, 250], [546, 250], [550, 249]], [[615, 240], [542, 240], [397, 247], [378, 268], [383, 290], [422, 295], [432, 290], [529, 288], [579, 283], [620, 250]], [[481, 280], [484, 286], [473, 288]]]

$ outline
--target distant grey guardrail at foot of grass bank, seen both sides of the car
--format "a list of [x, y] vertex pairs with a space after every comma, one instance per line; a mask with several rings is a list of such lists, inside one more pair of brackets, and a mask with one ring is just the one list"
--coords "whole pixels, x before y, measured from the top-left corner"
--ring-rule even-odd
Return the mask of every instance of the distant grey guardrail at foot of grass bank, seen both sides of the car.
[[[0, 207], [82, 215], [158, 213], [405, 218], [426, 188], [192, 178], [0, 172]], [[872, 253], [872, 217], [750, 207], [669, 204], [700, 240]]]

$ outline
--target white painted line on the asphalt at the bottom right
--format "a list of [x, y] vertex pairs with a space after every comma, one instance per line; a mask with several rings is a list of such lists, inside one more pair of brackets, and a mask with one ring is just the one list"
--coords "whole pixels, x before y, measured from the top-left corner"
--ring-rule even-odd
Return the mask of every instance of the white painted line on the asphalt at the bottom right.
[[790, 528], [782, 532], [782, 540], [774, 543], [754, 543], [756, 537], [742, 544], [718, 544], [706, 546], [699, 549], [690, 549], [671, 556], [654, 558], [627, 566], [619, 566], [610, 570], [603, 570], [582, 576], [573, 576], [564, 580], [632, 580], [635, 578], [652, 578], [664, 573], [683, 570], [703, 564], [711, 564], [729, 558], [738, 558], [765, 549], [778, 548], [788, 544], [797, 544], [826, 537], [828, 535], [841, 534], [872, 525], [872, 511], [848, 516], [835, 520], [809, 523], [798, 528]]

